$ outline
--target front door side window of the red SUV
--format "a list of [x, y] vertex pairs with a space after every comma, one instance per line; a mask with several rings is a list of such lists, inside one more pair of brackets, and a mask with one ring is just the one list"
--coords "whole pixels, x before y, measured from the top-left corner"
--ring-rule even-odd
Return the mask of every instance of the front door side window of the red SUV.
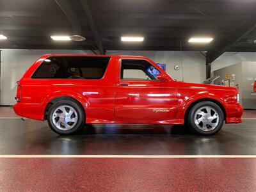
[[146, 60], [122, 60], [120, 74], [123, 80], [154, 81], [159, 70]]

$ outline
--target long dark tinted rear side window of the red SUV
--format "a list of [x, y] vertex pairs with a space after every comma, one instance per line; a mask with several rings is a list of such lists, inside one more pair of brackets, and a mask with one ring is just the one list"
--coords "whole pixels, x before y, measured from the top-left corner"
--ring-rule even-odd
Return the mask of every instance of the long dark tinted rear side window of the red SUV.
[[33, 78], [100, 79], [104, 76], [109, 57], [49, 57], [33, 74]]

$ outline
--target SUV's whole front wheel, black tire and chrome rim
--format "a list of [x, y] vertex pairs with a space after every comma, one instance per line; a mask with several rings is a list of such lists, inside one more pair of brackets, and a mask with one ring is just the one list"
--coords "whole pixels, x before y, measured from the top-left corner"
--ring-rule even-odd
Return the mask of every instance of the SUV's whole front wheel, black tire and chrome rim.
[[220, 106], [211, 101], [195, 104], [188, 113], [186, 124], [200, 135], [212, 135], [220, 131], [224, 122]]

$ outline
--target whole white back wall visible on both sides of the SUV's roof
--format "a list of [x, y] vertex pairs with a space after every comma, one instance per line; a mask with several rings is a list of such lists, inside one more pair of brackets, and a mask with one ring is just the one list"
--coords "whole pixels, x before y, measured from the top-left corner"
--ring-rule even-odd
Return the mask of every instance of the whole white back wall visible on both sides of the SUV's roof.
[[[2, 49], [1, 52], [1, 93], [0, 104], [15, 103], [16, 81], [43, 54], [93, 54], [92, 51], [81, 50], [28, 50]], [[205, 59], [199, 52], [179, 51], [108, 51], [107, 54], [146, 56], [156, 63], [166, 63], [166, 71], [174, 79], [182, 81], [182, 65], [184, 81], [201, 83], [205, 79]], [[180, 70], [174, 70], [179, 65]], [[196, 74], [196, 75], [195, 75]]]

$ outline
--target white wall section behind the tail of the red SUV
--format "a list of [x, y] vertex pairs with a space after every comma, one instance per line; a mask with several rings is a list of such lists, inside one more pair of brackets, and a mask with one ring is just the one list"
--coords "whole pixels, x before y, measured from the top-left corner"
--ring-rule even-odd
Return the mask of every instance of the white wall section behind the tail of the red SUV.
[[0, 104], [15, 104], [16, 81], [43, 54], [93, 54], [81, 50], [1, 49]]

